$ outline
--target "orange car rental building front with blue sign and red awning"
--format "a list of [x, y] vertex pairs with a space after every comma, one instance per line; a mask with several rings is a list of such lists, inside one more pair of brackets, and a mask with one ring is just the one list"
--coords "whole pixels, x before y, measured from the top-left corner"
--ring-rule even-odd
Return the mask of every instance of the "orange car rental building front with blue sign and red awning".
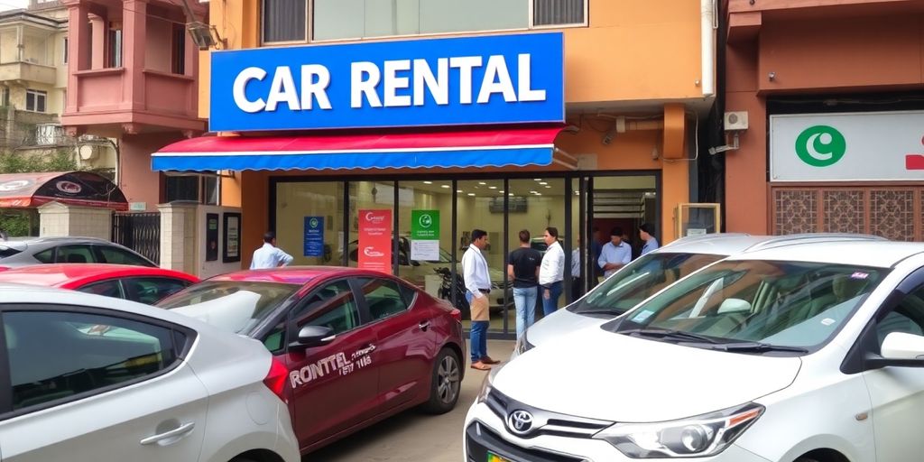
[[[677, 206], [698, 201], [696, 130], [715, 97], [713, 13], [710, 0], [211, 2], [222, 50], [202, 56], [199, 114], [225, 136], [168, 147], [154, 169], [222, 172], [222, 203], [243, 213], [245, 267], [267, 229], [298, 264], [358, 265], [361, 211], [391, 222], [385, 269], [429, 288], [436, 268], [456, 269], [473, 228], [489, 233], [498, 287], [520, 229], [541, 237], [557, 227], [569, 263], [571, 249], [614, 226], [632, 238], [650, 222], [670, 241]], [[428, 70], [404, 67], [412, 57]], [[353, 79], [351, 96], [349, 69], [362, 63], [384, 69], [385, 83], [359, 94]], [[362, 156], [371, 151], [388, 155]], [[425, 259], [413, 244], [422, 211], [439, 212]], [[496, 293], [492, 303], [512, 303]], [[504, 320], [492, 328], [507, 332]]]

